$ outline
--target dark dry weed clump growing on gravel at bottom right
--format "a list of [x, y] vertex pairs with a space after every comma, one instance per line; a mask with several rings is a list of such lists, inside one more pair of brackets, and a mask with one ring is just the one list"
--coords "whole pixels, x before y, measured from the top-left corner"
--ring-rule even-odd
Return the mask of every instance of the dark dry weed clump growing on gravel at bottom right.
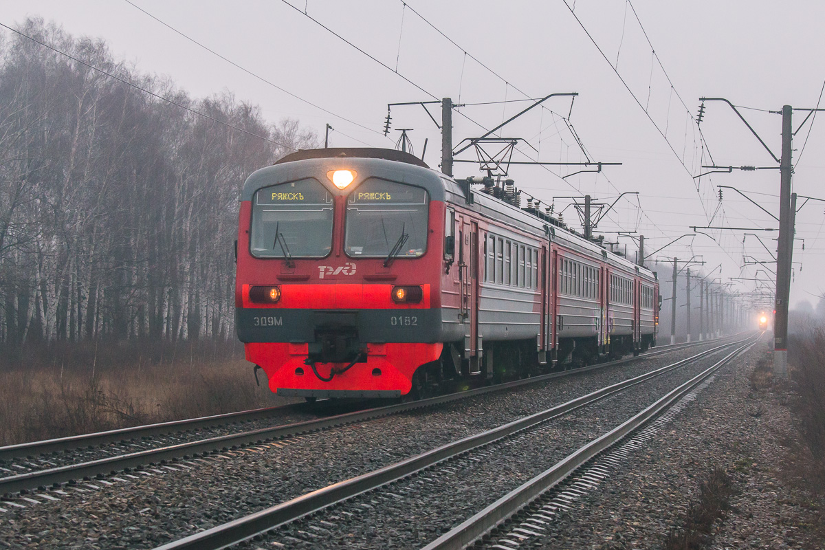
[[687, 510], [685, 524], [667, 535], [664, 550], [700, 550], [709, 548], [714, 523], [724, 518], [730, 507], [733, 484], [724, 469], [716, 467], [700, 485], [699, 501]]

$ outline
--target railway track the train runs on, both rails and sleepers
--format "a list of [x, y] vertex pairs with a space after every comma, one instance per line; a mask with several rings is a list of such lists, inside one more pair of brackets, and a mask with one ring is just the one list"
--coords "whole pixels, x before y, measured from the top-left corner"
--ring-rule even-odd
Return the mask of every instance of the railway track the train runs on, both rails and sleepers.
[[[694, 346], [707, 345], [711, 342], [662, 346], [639, 357], [595, 364], [582, 369], [544, 374], [461, 393], [431, 397], [417, 402], [375, 407], [286, 425], [271, 425], [271, 423], [273, 420], [277, 421], [295, 413], [312, 411], [317, 415], [323, 413], [323, 409], [318, 411], [317, 408], [313, 409], [307, 404], [299, 403], [2, 447], [0, 448], [0, 472], [5, 475], [0, 477], [0, 494], [9, 498], [13, 493], [18, 491], [25, 493], [35, 487], [40, 490], [44, 490], [45, 487], [59, 488], [64, 483], [73, 484], [82, 479], [101, 479], [119, 472], [130, 472], [133, 469], [139, 471], [145, 467], [177, 462], [181, 459], [216, 454], [272, 440], [282, 440], [381, 416], [399, 414], [423, 407], [434, 407], [485, 393], [541, 383], [570, 374], [581, 374], [593, 369], [625, 364]], [[323, 407], [323, 403], [317, 405]], [[249, 425], [255, 423], [264, 426], [248, 429]], [[234, 430], [237, 427], [242, 427], [242, 430]], [[232, 433], [226, 433], [227, 431]]]

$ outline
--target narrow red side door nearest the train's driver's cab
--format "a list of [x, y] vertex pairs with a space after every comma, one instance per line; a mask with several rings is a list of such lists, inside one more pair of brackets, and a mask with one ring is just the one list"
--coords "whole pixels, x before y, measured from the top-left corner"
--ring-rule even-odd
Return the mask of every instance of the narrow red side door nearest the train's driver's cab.
[[482, 353], [479, 338], [479, 224], [463, 215], [460, 220], [460, 321], [464, 324], [464, 358], [469, 360], [469, 373], [479, 374]]

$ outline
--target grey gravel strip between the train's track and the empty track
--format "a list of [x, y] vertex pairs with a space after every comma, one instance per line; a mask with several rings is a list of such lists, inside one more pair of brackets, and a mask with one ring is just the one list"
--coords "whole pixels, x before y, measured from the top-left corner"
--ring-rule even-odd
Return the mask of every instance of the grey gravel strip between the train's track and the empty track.
[[39, 548], [89, 548], [94, 544], [151, 548], [698, 351], [678, 350], [619, 368], [172, 465], [173, 469], [164, 466], [130, 474], [139, 479], [120, 474], [117, 477], [125, 482], [111, 478], [111, 486], [95, 482], [99, 489], [55, 495], [61, 499], [57, 502], [27, 505], [25, 510], [10, 507], [0, 514], [4, 533], [0, 543]]

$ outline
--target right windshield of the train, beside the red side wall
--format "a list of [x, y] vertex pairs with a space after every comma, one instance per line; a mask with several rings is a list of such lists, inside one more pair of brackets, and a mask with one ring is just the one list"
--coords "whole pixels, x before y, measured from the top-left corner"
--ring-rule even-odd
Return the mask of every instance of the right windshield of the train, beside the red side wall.
[[427, 251], [427, 191], [375, 178], [347, 197], [349, 256], [418, 257]]

